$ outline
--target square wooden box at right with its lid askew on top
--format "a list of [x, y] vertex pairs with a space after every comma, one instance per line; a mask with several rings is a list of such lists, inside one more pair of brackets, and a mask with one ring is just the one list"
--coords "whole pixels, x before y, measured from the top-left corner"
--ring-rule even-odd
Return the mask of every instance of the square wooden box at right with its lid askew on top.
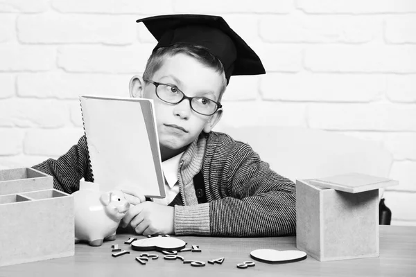
[[358, 174], [297, 180], [297, 249], [320, 261], [378, 257], [379, 188], [395, 184]]

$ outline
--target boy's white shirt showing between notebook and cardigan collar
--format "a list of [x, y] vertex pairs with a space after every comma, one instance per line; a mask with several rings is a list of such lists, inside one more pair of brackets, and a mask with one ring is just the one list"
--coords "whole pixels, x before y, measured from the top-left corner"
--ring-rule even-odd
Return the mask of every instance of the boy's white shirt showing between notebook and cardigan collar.
[[[177, 169], [179, 168], [180, 158], [182, 153], [177, 154], [171, 159], [167, 159], [162, 162], [163, 175], [166, 179], [165, 182], [165, 192], [166, 197], [164, 198], [153, 198], [153, 202], [162, 205], [170, 204], [176, 195], [179, 193], [179, 185], [177, 184]], [[167, 184], [166, 184], [167, 183]]]

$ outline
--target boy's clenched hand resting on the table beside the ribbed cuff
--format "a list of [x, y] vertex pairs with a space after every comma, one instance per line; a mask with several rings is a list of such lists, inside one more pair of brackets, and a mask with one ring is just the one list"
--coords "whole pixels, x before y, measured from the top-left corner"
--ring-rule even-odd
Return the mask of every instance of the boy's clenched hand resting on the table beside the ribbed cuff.
[[138, 234], [168, 234], [174, 233], [173, 217], [175, 208], [146, 201], [136, 206], [131, 206], [121, 221], [121, 226], [128, 224]]

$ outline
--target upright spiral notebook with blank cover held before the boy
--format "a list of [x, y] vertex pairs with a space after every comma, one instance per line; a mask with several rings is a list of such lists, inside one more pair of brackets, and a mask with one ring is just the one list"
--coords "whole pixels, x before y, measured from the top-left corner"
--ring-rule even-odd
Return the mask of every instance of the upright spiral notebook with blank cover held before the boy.
[[139, 186], [146, 197], [165, 197], [153, 100], [80, 96], [80, 105], [100, 190]]

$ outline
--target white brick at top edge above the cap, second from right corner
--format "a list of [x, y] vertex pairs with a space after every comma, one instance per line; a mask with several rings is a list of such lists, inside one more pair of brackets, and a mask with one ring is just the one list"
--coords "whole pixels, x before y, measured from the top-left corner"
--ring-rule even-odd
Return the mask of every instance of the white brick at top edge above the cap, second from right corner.
[[294, 9], [293, 0], [257, 0], [253, 4], [250, 0], [242, 0], [236, 3], [232, 0], [211, 0], [211, 1], [173, 1], [175, 12], [180, 13], [289, 13]]

